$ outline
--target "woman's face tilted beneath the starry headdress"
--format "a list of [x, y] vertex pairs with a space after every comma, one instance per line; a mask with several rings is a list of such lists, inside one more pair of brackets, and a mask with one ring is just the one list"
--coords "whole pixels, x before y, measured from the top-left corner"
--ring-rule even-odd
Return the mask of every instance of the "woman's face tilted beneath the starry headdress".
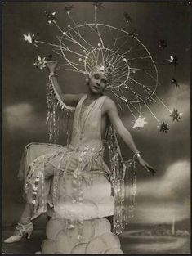
[[109, 85], [109, 80], [105, 74], [101, 72], [92, 72], [89, 75], [88, 87], [94, 94], [104, 92], [105, 88]]

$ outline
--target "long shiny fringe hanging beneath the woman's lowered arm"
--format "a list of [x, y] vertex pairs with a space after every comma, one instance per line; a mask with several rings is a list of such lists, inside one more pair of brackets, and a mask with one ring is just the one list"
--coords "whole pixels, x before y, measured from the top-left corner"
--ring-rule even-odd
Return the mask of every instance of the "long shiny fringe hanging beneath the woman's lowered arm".
[[120, 234], [134, 216], [136, 204], [136, 163], [133, 159], [123, 161], [115, 130], [109, 128], [107, 144], [114, 192], [114, 233]]

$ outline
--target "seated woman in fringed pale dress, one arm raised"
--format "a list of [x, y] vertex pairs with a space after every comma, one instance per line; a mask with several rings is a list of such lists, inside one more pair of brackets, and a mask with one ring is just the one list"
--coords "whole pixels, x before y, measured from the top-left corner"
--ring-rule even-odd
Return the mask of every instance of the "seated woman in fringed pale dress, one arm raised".
[[[42, 153], [28, 164], [28, 174], [25, 178], [27, 203], [16, 230], [12, 236], [5, 240], [6, 243], [19, 241], [25, 234], [28, 234], [29, 238], [33, 231], [31, 219], [36, 218], [42, 212], [46, 212], [47, 203], [53, 206], [55, 212], [59, 212], [63, 218], [70, 217], [70, 213], [67, 212], [68, 207], [61, 211], [58, 195], [56, 195], [60, 175], [63, 175], [65, 179], [72, 175], [73, 179], [69, 179], [70, 182], [76, 182], [76, 185], [73, 185], [77, 191], [75, 195], [73, 194], [74, 191], [65, 191], [65, 194], [68, 193], [67, 196], [74, 200], [73, 205], [81, 203], [83, 200], [78, 193], [81, 188], [80, 181], [84, 174], [87, 174], [88, 178], [92, 178], [94, 173], [99, 171], [100, 175], [110, 176], [109, 168], [103, 160], [103, 140], [109, 124], [112, 124], [119, 136], [123, 138], [141, 167], [154, 173], [153, 168], [142, 159], [130, 132], [124, 127], [114, 101], [103, 95], [103, 92], [110, 85], [113, 76], [112, 71], [105, 65], [97, 65], [90, 74], [87, 74], [87, 94], [65, 94], [61, 91], [56, 79], [56, 65], [56, 61], [47, 62], [47, 68], [56, 92], [66, 105], [76, 107], [71, 143], [69, 146], [51, 146], [51, 150], [49, 148], [47, 152], [42, 150]], [[29, 146], [25, 154], [25, 161], [28, 160], [28, 162], [30, 162], [28, 159], [30, 150]], [[51, 193], [51, 187], [54, 193]], [[78, 215], [80, 219], [85, 218], [80, 214]]]

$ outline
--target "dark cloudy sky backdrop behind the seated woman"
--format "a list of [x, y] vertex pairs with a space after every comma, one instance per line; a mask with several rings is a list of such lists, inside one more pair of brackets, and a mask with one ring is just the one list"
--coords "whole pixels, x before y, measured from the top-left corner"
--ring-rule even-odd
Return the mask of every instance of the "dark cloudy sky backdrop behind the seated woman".
[[[93, 19], [92, 2], [73, 4], [78, 22]], [[49, 55], [50, 49], [26, 45], [22, 34], [31, 32], [53, 42], [56, 29], [47, 25], [43, 11], [56, 11], [59, 22], [66, 26], [65, 6], [65, 2], [6, 2], [3, 7], [2, 214], [7, 225], [18, 217], [10, 212], [17, 209], [19, 215], [24, 204], [22, 184], [16, 179], [22, 151], [31, 141], [47, 142], [47, 70], [35, 69], [33, 62], [38, 54]], [[124, 11], [132, 16], [131, 26], [139, 31], [142, 43], [155, 59], [159, 70], [158, 96], [170, 109], [183, 113], [181, 121], [173, 123], [162, 105], [149, 103], [158, 118], [169, 124], [170, 131], [163, 135], [145, 107], [143, 116], [148, 124], [140, 130], [132, 128], [134, 119], [128, 110], [119, 112], [142, 155], [157, 170], [156, 176], [150, 177], [138, 168], [136, 218], [132, 222], [184, 220], [190, 218], [190, 8], [188, 3], [179, 2], [105, 2], [99, 19], [129, 31], [123, 20]], [[164, 51], [158, 47], [159, 39], [167, 40]], [[163, 61], [171, 54], [178, 56], [176, 69]], [[179, 88], [171, 83], [172, 77], [178, 80]], [[65, 92], [86, 92], [80, 74], [60, 73], [59, 79]], [[130, 158], [129, 150], [119, 141], [124, 158]], [[61, 142], [65, 143], [65, 137]]]

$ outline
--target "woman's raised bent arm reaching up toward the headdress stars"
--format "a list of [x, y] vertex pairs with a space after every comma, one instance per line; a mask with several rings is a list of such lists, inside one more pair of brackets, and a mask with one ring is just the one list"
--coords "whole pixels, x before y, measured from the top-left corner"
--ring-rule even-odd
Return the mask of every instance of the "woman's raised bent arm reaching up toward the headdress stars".
[[81, 97], [83, 97], [83, 93], [78, 93], [78, 94], [64, 93], [60, 88], [60, 84], [58, 83], [57, 74], [55, 71], [57, 61], [47, 61], [46, 65], [47, 65], [49, 74], [51, 75], [52, 83], [54, 84], [54, 87], [56, 88], [56, 92], [59, 94], [61, 100], [64, 101], [67, 106], [77, 106], [78, 101], [81, 99]]

